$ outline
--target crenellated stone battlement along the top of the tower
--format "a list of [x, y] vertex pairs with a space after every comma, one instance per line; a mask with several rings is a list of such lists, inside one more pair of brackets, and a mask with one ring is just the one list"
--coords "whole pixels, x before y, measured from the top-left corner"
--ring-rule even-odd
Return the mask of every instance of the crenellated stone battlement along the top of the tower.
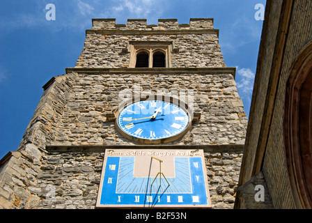
[[146, 19], [128, 19], [127, 24], [116, 24], [116, 19], [93, 19], [92, 29], [214, 29], [213, 18], [191, 18], [189, 24], [178, 24], [177, 19], [159, 19], [158, 24], [147, 24]]

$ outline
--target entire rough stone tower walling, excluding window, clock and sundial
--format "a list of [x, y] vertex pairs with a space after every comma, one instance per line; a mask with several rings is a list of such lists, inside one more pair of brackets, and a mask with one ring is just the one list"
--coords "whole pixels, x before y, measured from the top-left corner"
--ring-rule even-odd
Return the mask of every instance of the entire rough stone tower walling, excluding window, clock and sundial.
[[[127, 45], [145, 40], [172, 42], [170, 68], [128, 68]], [[203, 148], [212, 208], [233, 208], [247, 117], [212, 19], [93, 20], [75, 68], [43, 88], [20, 147], [0, 162], [1, 208], [95, 208], [105, 148], [142, 146], [108, 118], [120, 92], [192, 95], [200, 120], [162, 146]]]

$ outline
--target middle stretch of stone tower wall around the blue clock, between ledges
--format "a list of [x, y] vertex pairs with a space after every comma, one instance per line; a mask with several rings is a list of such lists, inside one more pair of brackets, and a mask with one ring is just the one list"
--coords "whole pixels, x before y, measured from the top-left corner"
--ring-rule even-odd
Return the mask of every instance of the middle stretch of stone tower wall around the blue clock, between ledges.
[[[121, 102], [120, 92], [134, 95], [161, 92], [162, 95], [187, 97], [194, 95], [194, 112], [201, 113], [201, 121], [194, 123], [182, 140], [171, 144], [213, 145], [244, 144], [247, 117], [236, 91], [231, 74], [88, 74], [79, 73], [72, 84], [68, 103], [53, 128], [54, 146], [134, 145], [108, 121]], [[170, 89], [170, 90], [169, 90]], [[186, 98], [187, 98], [186, 97]]]

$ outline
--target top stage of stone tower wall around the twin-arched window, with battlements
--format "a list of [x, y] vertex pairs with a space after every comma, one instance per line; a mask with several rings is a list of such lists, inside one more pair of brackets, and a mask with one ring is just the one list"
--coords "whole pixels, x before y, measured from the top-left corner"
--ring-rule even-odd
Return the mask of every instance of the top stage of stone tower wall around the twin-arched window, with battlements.
[[116, 20], [93, 20], [76, 68], [127, 68], [129, 42], [137, 40], [171, 41], [172, 68], [225, 67], [219, 30], [212, 23], [212, 19], [191, 19], [189, 24], [159, 20], [158, 25], [147, 25], [146, 20], [128, 20], [125, 25]]

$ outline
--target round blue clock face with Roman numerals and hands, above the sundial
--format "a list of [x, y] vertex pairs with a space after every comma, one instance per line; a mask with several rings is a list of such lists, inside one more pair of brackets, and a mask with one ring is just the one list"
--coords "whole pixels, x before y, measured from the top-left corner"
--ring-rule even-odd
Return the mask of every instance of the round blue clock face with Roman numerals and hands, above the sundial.
[[139, 139], [165, 139], [180, 134], [189, 124], [184, 109], [162, 100], [143, 100], [125, 107], [118, 116], [118, 126]]

